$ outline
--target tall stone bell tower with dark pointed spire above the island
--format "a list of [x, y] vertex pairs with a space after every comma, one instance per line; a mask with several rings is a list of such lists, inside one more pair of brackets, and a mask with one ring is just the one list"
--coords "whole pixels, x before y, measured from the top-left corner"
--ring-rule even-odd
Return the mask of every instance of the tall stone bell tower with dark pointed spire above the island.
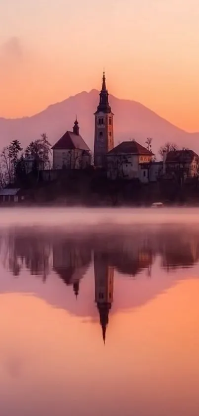
[[106, 154], [114, 148], [114, 114], [109, 105], [109, 93], [106, 88], [105, 73], [102, 78], [100, 101], [95, 116], [94, 166], [106, 165]]

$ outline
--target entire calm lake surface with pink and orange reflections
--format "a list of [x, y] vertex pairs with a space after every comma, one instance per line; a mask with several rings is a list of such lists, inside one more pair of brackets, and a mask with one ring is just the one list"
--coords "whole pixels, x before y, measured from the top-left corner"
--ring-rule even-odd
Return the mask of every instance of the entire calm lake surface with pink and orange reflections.
[[199, 415], [199, 210], [1, 210], [0, 416]]

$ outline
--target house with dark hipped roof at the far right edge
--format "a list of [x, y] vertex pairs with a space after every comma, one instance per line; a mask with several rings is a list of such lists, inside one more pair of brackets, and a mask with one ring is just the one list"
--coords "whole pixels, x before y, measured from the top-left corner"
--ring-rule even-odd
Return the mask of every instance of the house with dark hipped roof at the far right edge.
[[199, 156], [189, 149], [172, 150], [165, 157], [165, 173], [176, 178], [199, 176]]

